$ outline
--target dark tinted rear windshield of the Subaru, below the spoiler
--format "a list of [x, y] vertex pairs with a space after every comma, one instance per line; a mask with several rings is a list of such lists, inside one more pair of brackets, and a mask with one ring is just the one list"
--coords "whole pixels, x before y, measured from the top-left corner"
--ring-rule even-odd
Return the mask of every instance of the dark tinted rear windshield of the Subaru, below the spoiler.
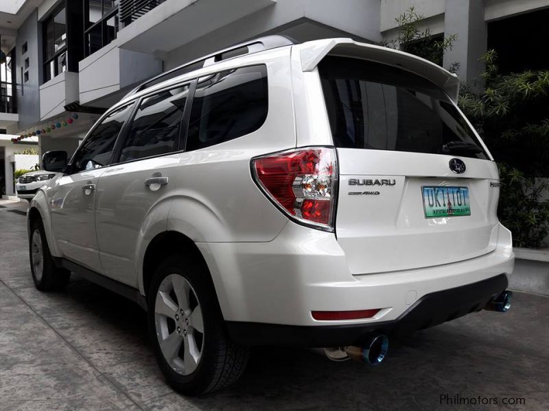
[[318, 69], [336, 147], [488, 159], [449, 97], [423, 77], [335, 56]]

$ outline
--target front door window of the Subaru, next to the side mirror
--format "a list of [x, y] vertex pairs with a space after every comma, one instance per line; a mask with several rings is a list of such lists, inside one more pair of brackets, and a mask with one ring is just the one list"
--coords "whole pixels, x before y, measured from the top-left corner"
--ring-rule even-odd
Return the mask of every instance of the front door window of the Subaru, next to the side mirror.
[[108, 165], [118, 134], [131, 112], [132, 105], [127, 105], [106, 116], [101, 124], [95, 127], [75, 155], [75, 173]]

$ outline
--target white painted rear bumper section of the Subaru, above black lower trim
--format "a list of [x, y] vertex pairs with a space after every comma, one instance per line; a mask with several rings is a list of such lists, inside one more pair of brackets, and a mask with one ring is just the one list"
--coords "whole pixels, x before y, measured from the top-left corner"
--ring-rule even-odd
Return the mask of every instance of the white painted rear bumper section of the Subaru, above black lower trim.
[[[502, 274], [508, 281], [515, 258], [511, 233], [502, 225], [494, 230], [493, 251], [484, 256], [423, 269], [366, 275], [351, 274], [345, 253], [334, 234], [292, 222], [288, 222], [270, 242], [197, 245], [209, 266], [224, 319], [234, 323], [233, 329], [244, 327], [239, 323], [259, 323], [263, 329], [275, 329], [279, 325], [290, 326], [290, 330], [345, 326], [367, 331], [384, 323], [400, 321], [427, 295], [482, 284], [484, 280]], [[364, 258], [380, 257], [369, 255], [365, 250]], [[386, 264], [390, 269], [391, 262]], [[493, 292], [502, 291], [504, 286], [501, 288]], [[487, 303], [491, 292], [480, 297], [478, 301], [464, 300], [467, 307], [463, 309], [468, 312], [479, 301]], [[369, 309], [379, 309], [379, 312], [371, 319], [359, 320], [318, 321], [312, 317], [312, 311]], [[442, 321], [460, 310], [443, 313]], [[421, 312], [414, 309], [414, 316]], [[432, 319], [425, 314], [423, 320]], [[365, 331], [359, 334], [362, 332]], [[248, 332], [241, 334], [250, 335]], [[327, 340], [320, 346], [326, 347], [329, 342], [333, 341]]]

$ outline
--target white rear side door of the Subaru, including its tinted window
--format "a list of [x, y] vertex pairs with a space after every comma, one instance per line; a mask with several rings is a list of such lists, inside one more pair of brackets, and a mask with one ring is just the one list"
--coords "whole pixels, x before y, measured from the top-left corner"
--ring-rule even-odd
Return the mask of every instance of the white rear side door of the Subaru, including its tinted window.
[[104, 275], [137, 287], [136, 251], [152, 225], [166, 228], [176, 186], [189, 84], [144, 97], [98, 184], [97, 242]]

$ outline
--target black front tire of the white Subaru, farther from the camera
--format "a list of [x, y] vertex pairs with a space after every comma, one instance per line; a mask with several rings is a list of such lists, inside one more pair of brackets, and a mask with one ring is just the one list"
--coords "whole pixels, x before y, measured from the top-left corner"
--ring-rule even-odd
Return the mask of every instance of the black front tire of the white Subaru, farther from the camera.
[[[33, 236], [40, 237], [40, 244], [36, 245]], [[38, 248], [41, 249], [42, 264], [36, 264], [36, 256]], [[71, 272], [66, 269], [60, 269], [54, 264], [54, 259], [51, 258], [47, 239], [44, 232], [44, 226], [40, 219], [35, 219], [31, 224], [29, 237], [29, 260], [30, 270], [34, 286], [40, 291], [59, 290], [69, 283]], [[40, 272], [41, 271], [41, 275]]]

